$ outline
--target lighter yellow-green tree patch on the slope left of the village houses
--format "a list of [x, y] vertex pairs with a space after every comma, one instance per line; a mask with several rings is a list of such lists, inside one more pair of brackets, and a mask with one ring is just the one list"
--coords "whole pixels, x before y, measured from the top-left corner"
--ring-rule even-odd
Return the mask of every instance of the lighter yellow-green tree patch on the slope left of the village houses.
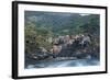
[[51, 48], [52, 45], [47, 41], [52, 36], [52, 32], [46, 27], [37, 27], [33, 23], [25, 25], [25, 52], [35, 53], [38, 47]]

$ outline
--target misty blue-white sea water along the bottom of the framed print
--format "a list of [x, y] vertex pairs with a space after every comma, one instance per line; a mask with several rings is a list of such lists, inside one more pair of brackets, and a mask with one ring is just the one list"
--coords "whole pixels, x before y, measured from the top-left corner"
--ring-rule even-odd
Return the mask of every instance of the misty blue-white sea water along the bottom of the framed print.
[[26, 66], [26, 69], [34, 68], [59, 68], [59, 67], [84, 67], [84, 66], [98, 66], [98, 59], [76, 59], [76, 60], [40, 60], [35, 64]]

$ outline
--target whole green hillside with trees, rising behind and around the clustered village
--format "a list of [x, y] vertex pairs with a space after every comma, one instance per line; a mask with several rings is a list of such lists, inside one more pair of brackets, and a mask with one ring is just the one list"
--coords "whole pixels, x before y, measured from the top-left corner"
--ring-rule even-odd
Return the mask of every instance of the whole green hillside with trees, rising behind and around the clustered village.
[[[69, 15], [66, 15], [69, 14]], [[91, 50], [99, 52], [99, 15], [89, 14], [81, 16], [78, 13], [46, 13], [46, 12], [25, 12], [25, 53], [34, 54], [40, 47], [46, 50], [52, 48], [53, 37], [58, 35], [88, 34]], [[97, 52], [96, 52], [97, 53]]]

